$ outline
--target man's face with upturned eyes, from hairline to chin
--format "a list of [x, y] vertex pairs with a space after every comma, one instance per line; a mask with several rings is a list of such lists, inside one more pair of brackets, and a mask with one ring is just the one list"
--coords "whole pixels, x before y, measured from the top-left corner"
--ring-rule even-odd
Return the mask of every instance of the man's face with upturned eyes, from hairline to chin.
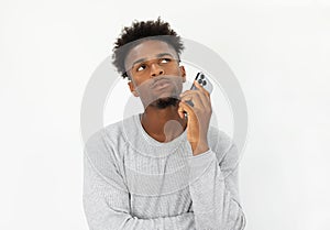
[[144, 41], [134, 46], [125, 58], [125, 69], [134, 96], [144, 107], [158, 99], [178, 98], [186, 80], [183, 66], [178, 65], [175, 50], [157, 40]]

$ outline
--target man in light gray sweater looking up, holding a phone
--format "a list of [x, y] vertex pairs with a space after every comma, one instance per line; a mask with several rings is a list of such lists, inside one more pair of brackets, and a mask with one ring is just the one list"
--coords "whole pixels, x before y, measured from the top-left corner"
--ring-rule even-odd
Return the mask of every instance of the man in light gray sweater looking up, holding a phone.
[[209, 127], [209, 92], [182, 92], [182, 40], [168, 23], [134, 22], [113, 64], [144, 107], [94, 134], [85, 150], [84, 207], [92, 230], [242, 230], [238, 150]]

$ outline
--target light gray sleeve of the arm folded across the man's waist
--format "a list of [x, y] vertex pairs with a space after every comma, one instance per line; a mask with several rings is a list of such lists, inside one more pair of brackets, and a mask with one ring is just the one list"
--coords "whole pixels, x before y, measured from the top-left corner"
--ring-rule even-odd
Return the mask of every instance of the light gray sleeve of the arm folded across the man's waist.
[[[90, 230], [195, 229], [193, 212], [154, 219], [139, 219], [131, 216], [130, 194], [116, 168], [116, 164], [105, 158], [95, 160], [95, 156], [102, 156], [106, 151], [105, 147], [102, 141], [92, 139], [85, 151], [84, 209]], [[107, 165], [107, 174], [111, 176], [102, 175], [102, 165], [105, 164]]]

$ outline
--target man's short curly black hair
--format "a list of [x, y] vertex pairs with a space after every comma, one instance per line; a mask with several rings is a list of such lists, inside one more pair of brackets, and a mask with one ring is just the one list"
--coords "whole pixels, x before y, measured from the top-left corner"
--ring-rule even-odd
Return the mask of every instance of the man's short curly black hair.
[[130, 77], [127, 74], [124, 62], [128, 53], [145, 40], [160, 40], [170, 45], [179, 56], [184, 50], [180, 36], [170, 29], [168, 22], [158, 17], [156, 21], [134, 21], [131, 26], [125, 26], [117, 39], [113, 47], [112, 64], [122, 77]]

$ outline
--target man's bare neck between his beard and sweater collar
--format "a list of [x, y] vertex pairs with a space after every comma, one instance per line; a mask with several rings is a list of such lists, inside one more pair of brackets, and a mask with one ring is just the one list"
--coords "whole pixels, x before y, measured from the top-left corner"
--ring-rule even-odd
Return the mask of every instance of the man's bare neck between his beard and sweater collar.
[[187, 121], [178, 116], [178, 106], [160, 109], [155, 106], [145, 108], [141, 123], [146, 133], [158, 142], [169, 142], [186, 129]]

